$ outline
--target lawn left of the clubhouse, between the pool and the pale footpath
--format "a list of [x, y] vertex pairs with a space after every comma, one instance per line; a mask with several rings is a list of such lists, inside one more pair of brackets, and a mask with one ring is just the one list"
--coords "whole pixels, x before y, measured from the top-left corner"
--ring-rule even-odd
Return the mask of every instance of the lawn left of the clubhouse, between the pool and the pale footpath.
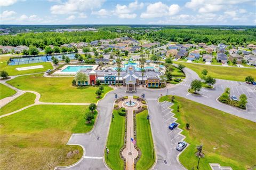
[[[43, 77], [42, 74], [19, 76], [7, 83], [20, 88], [21, 90], [36, 91], [41, 94], [39, 99], [42, 102], [67, 102], [67, 103], [96, 103], [95, 92], [98, 87], [72, 85], [73, 77]], [[104, 87], [102, 96], [112, 90], [111, 87]]]

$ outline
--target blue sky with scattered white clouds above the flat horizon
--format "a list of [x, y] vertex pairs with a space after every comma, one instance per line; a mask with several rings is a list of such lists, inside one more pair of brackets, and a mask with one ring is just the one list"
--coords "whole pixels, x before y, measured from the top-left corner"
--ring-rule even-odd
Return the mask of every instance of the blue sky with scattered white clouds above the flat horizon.
[[0, 0], [7, 25], [256, 25], [256, 0]]

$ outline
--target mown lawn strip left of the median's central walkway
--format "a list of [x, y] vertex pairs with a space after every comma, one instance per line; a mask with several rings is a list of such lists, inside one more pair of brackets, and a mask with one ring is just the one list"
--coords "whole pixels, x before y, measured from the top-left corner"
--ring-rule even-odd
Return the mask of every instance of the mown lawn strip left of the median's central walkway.
[[109, 133], [108, 133], [108, 141], [107, 147], [110, 151], [108, 158], [105, 152], [105, 160], [107, 165], [115, 170], [115, 169], [124, 169], [124, 161], [119, 155], [120, 149], [124, 145], [124, 131], [125, 131], [125, 117], [118, 115], [118, 110], [113, 111], [114, 120], [111, 122]]

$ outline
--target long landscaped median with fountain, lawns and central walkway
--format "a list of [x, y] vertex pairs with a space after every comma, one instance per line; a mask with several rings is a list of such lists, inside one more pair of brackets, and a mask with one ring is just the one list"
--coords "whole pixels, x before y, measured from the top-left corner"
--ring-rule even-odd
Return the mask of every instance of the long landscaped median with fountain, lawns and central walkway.
[[[134, 102], [135, 106], [126, 107], [127, 110], [122, 108], [127, 102]], [[145, 105], [146, 102], [138, 96], [133, 96], [133, 98], [125, 96], [116, 100], [115, 103], [113, 110], [114, 117], [110, 123], [106, 144], [107, 149], [109, 149], [108, 155], [105, 151], [105, 161], [107, 165], [111, 169], [120, 170], [123, 170], [130, 165], [132, 166], [129, 168], [133, 168], [134, 165], [134, 168], [138, 170], [150, 169], [155, 163], [155, 152], [151, 126], [149, 119], [147, 119], [148, 110]], [[133, 123], [130, 122], [132, 117]], [[133, 126], [133, 130], [131, 129], [132, 132], [129, 131], [129, 126], [131, 127], [131, 125]], [[127, 127], [128, 129], [126, 129]], [[129, 144], [131, 139], [126, 138], [130, 133], [131, 136], [133, 136], [133, 140], [136, 142], [135, 144], [132, 143], [135, 148], [131, 148], [132, 154], [127, 156], [128, 149], [131, 147], [131, 144]], [[136, 150], [138, 151], [138, 155], [135, 154], [135, 152], [137, 152]], [[132, 157], [134, 154], [135, 156]], [[130, 159], [130, 157], [132, 157], [132, 159]]]

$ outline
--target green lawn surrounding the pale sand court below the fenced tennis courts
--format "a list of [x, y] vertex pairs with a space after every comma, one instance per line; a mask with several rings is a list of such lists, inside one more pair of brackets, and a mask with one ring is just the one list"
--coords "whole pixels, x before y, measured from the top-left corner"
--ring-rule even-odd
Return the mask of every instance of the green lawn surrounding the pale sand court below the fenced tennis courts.
[[[31, 69], [31, 70], [23, 70], [23, 71], [18, 71], [16, 69], [16, 68], [20, 68], [20, 67], [38, 66], [38, 65], [42, 65], [44, 68]], [[7, 71], [9, 73], [9, 76], [33, 74], [33, 73], [37, 73], [37, 72], [44, 72], [47, 69], [53, 69], [52, 64], [50, 62], [21, 64], [21, 65], [14, 65], [14, 66], [7, 66], [7, 62], [3, 62], [3, 63], [1, 63], [1, 68], [0, 68], [0, 70]]]

